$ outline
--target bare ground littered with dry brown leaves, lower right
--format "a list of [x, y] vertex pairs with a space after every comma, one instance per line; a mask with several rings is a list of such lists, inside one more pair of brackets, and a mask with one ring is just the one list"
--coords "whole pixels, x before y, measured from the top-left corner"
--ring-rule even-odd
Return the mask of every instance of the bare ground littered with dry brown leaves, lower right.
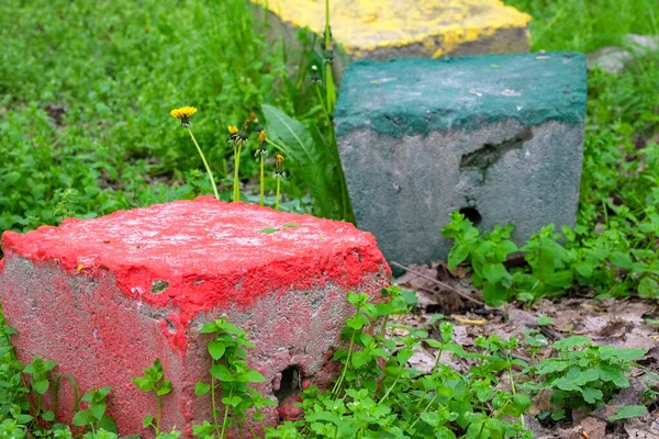
[[[524, 329], [539, 329], [551, 342], [554, 340], [581, 335], [600, 345], [616, 348], [643, 348], [647, 354], [638, 361], [639, 368], [632, 370], [630, 386], [618, 393], [604, 407], [592, 413], [572, 412], [572, 420], [546, 428], [535, 415], [549, 408], [550, 395], [538, 394], [525, 425], [537, 438], [602, 439], [602, 438], [656, 438], [659, 439], [659, 403], [644, 399], [648, 386], [657, 390], [657, 382], [648, 376], [659, 372], [659, 306], [651, 301], [639, 299], [593, 300], [591, 291], [574, 291], [560, 300], [540, 300], [533, 305], [513, 303], [500, 308], [491, 308], [482, 303], [481, 293], [471, 285], [469, 274], [458, 267], [454, 273], [446, 266], [434, 263], [411, 266], [409, 271], [396, 279], [404, 289], [413, 290], [418, 297], [414, 314], [402, 319], [403, 325], [422, 327], [437, 313], [447, 316], [455, 324], [455, 342], [466, 350], [473, 348], [479, 335], [499, 335], [502, 339], [516, 336], [524, 339]], [[548, 325], [538, 326], [538, 317], [551, 318]], [[432, 334], [431, 334], [432, 336]], [[525, 346], [515, 352], [516, 357], [528, 360]], [[420, 370], [431, 370], [436, 359], [432, 348], [420, 350], [410, 360], [410, 365]], [[442, 361], [453, 368], [466, 371], [467, 360], [443, 354]], [[645, 404], [648, 414], [610, 423], [617, 406]]]

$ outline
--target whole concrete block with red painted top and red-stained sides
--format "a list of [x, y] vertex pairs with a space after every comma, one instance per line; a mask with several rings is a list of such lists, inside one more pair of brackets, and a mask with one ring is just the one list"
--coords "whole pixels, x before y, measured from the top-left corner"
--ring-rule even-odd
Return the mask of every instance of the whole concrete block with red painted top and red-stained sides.
[[[55, 374], [72, 374], [81, 391], [111, 385], [120, 434], [144, 437], [155, 397], [131, 378], [156, 358], [174, 386], [164, 429], [190, 436], [211, 419], [210, 397], [194, 396], [194, 384], [210, 381], [204, 323], [225, 313], [248, 333], [249, 367], [266, 376], [256, 389], [276, 401], [290, 367], [306, 385], [335, 376], [327, 359], [353, 313], [346, 292], [378, 300], [390, 280], [375, 238], [349, 224], [209, 198], [5, 232], [2, 247], [0, 300], [19, 359], [55, 361]], [[70, 421], [71, 403], [63, 384], [60, 420]], [[279, 408], [267, 424], [291, 407]]]

